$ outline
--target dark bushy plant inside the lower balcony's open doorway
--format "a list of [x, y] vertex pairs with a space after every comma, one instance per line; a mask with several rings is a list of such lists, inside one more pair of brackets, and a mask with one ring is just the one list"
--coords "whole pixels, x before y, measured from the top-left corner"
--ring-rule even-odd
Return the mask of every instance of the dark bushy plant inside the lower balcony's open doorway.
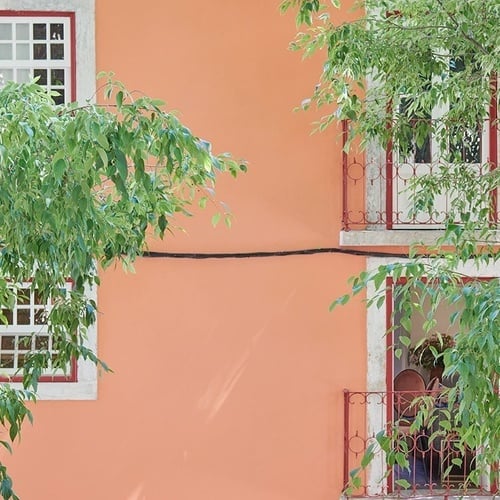
[[455, 342], [451, 335], [433, 333], [410, 348], [409, 361], [429, 370], [430, 379], [438, 377], [441, 380], [444, 370], [443, 353], [454, 345]]

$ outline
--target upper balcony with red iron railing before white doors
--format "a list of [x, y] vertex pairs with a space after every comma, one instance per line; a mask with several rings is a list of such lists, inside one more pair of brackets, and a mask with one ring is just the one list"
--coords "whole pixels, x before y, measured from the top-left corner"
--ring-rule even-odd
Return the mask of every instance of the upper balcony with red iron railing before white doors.
[[[348, 138], [348, 122], [343, 123], [343, 146]], [[467, 168], [474, 175], [497, 168], [498, 130], [486, 123], [473, 144], [473, 159]], [[390, 147], [369, 146], [361, 151], [351, 145], [342, 154], [342, 233], [343, 245], [408, 245], [421, 241], [431, 244], [441, 234], [450, 213], [452, 196], [446, 192], [434, 200], [435, 211], [410, 215], [412, 208], [410, 181], [422, 175], [436, 174], [442, 164], [432, 161], [431, 151], [437, 145], [429, 141], [427, 151], [413, 152], [398, 158]], [[466, 155], [469, 153], [466, 153]], [[426, 156], [427, 155], [427, 156]], [[498, 190], [490, 193], [490, 215], [493, 229], [498, 229], [500, 211]]]

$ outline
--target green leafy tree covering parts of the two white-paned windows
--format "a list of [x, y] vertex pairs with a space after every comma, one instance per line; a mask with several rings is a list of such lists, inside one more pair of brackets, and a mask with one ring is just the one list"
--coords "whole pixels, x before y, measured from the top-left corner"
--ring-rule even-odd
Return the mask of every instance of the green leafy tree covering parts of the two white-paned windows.
[[[0, 423], [11, 441], [32, 420], [27, 402], [49, 363], [65, 369], [84, 358], [107, 370], [84, 342], [97, 308], [86, 288], [99, 285], [99, 268], [131, 265], [151, 232], [162, 238], [173, 217], [212, 197], [219, 172], [246, 169], [214, 155], [160, 101], [111, 79], [103, 90], [104, 104], [65, 106], [36, 83], [0, 90], [0, 308], [12, 309], [26, 281], [50, 297], [57, 352], [52, 359], [47, 349], [28, 353], [22, 389], [0, 385]], [[65, 292], [68, 278], [73, 287]], [[17, 498], [1, 464], [0, 495]]]

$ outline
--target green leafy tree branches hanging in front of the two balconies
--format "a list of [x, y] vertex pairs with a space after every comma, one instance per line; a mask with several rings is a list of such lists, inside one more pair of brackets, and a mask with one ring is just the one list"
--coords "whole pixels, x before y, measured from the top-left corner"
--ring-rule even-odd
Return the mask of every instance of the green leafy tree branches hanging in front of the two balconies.
[[[404, 278], [396, 311], [401, 325], [408, 329], [413, 314], [424, 314], [428, 334], [440, 303], [457, 306], [450, 317], [458, 329], [455, 345], [435, 355], [444, 358], [445, 374], [458, 375], [447, 395], [449, 424], [462, 449], [477, 450], [469, 480], [478, 482], [480, 473], [500, 461], [500, 283], [464, 275], [460, 266], [495, 265], [500, 255], [492, 203], [499, 188], [497, 159], [479, 170], [471, 159], [482, 124], [498, 133], [500, 3], [365, 0], [353, 21], [342, 20], [339, 0], [284, 0], [282, 11], [290, 8], [297, 9], [297, 25], [305, 26], [292, 49], [305, 56], [321, 52], [324, 59], [319, 83], [302, 103], [304, 109], [313, 104], [327, 110], [319, 130], [347, 120], [350, 140], [391, 145], [403, 156], [422, 148], [431, 135], [438, 143], [432, 160], [437, 168], [411, 185], [414, 212], [433, 214], [436, 198], [450, 194], [437, 243], [425, 248], [414, 242], [407, 261], [354, 277], [351, 295], [372, 284], [378, 293], [368, 306], [380, 307], [387, 278]], [[430, 303], [426, 311], [425, 300]], [[429, 411], [415, 425], [434, 418]], [[401, 459], [383, 435], [379, 443], [389, 464]]]

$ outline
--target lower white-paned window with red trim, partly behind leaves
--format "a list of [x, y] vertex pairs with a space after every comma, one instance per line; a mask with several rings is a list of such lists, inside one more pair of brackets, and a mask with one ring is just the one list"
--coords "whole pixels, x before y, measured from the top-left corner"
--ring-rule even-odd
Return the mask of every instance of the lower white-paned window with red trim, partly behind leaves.
[[[61, 290], [64, 296], [72, 289], [67, 281]], [[44, 352], [48, 366], [40, 382], [76, 382], [77, 363], [72, 360], [67, 366], [55, 368], [52, 360], [57, 355], [57, 346], [49, 331], [50, 311], [54, 300], [44, 298], [31, 283], [16, 287], [12, 309], [2, 310], [0, 324], [0, 382], [20, 382], [22, 369], [30, 352]]]

